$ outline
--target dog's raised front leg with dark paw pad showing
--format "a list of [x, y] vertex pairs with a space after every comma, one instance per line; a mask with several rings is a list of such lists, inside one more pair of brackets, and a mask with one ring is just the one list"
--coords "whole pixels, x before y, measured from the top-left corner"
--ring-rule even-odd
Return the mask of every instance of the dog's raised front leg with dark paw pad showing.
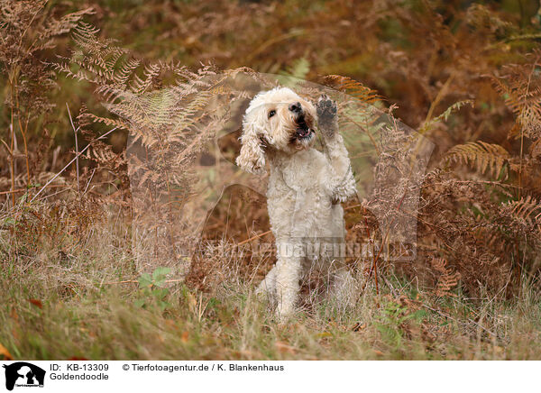
[[336, 103], [322, 95], [316, 105], [317, 123], [323, 134], [326, 155], [332, 168], [333, 199], [344, 202], [356, 191], [353, 170], [344, 146], [344, 139], [338, 132]]

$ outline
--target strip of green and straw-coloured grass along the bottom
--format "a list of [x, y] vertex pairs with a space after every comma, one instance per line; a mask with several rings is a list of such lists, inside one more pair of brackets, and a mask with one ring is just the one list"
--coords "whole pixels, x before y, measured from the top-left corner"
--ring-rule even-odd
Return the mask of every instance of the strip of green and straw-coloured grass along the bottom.
[[279, 324], [252, 283], [201, 293], [164, 282], [175, 269], [137, 273], [113, 232], [27, 254], [4, 232], [0, 343], [14, 359], [541, 359], [541, 299], [527, 286], [510, 301], [435, 299], [389, 277], [347, 312], [318, 304]]

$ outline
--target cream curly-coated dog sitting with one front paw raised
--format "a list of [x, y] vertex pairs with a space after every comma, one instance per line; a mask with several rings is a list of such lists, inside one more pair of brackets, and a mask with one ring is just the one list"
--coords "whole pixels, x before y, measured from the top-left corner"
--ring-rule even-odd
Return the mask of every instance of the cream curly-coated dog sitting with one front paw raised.
[[[325, 153], [311, 147], [316, 123]], [[317, 267], [328, 271], [335, 294], [343, 298], [351, 292], [351, 276], [340, 255], [345, 228], [339, 202], [356, 189], [335, 102], [324, 95], [314, 107], [287, 87], [262, 91], [246, 109], [241, 143], [241, 168], [261, 174], [268, 162], [271, 169], [267, 202], [278, 260], [258, 292], [287, 317], [295, 311], [299, 280]]]

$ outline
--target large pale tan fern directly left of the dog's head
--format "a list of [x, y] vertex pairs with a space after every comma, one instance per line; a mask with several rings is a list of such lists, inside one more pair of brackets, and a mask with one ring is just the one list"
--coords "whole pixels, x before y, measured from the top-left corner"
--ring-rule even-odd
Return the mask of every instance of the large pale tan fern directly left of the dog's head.
[[[198, 153], [225, 127], [232, 114], [229, 105], [244, 100], [246, 92], [225, 83], [237, 70], [217, 75], [209, 66], [192, 71], [173, 62], [133, 59], [97, 33], [79, 23], [73, 33], [77, 48], [54, 67], [96, 87], [110, 114], [84, 114], [86, 119], [128, 131], [125, 155], [88, 151], [87, 158], [103, 167], [128, 167], [134, 233], [141, 236], [135, 243], [143, 248], [152, 244], [157, 257], [170, 258], [173, 247], [190, 242], [193, 234], [182, 232], [188, 223], [178, 217], [185, 204], [194, 203], [189, 196], [197, 186]], [[304, 65], [300, 63], [298, 73]]]

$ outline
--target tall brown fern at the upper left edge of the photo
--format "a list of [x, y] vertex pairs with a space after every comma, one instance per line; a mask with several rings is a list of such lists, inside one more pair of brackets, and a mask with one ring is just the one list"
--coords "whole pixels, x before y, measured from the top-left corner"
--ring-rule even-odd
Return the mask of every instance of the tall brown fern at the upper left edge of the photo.
[[[4, 86], [3, 108], [0, 112], [0, 128], [9, 129], [11, 141], [0, 142], [9, 154], [10, 182], [12, 191], [17, 183], [17, 139], [23, 140], [23, 158], [26, 168], [25, 185], [31, 184], [31, 154], [33, 130], [40, 125], [54, 108], [49, 99], [50, 91], [56, 87], [55, 75], [50, 72], [39, 52], [53, 49], [61, 35], [70, 32], [86, 14], [93, 14], [92, 8], [79, 10], [58, 17], [54, 7], [46, 1], [0, 1], [0, 76]], [[9, 92], [9, 93], [8, 93]], [[2, 112], [9, 113], [7, 124], [1, 122]], [[4, 127], [6, 125], [6, 127]], [[18, 134], [18, 136], [17, 136]], [[0, 158], [0, 160], [2, 160]], [[0, 167], [4, 163], [0, 163]], [[0, 171], [1, 173], [1, 171]], [[19, 184], [22, 186], [22, 184]], [[16, 193], [14, 193], [14, 196]]]

